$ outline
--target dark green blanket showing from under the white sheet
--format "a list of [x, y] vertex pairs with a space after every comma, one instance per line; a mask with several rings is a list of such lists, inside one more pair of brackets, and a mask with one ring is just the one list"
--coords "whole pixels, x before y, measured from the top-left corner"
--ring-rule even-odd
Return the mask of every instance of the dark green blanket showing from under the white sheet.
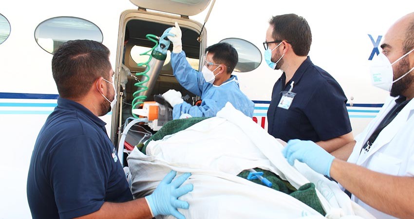
[[[151, 138], [145, 143], [141, 151], [146, 154], [146, 148], [148, 143], [152, 140], [157, 141], [164, 138], [166, 135], [174, 134], [182, 131], [198, 122], [201, 122], [210, 117], [192, 117], [188, 119], [176, 119], [166, 123], [157, 133], [151, 136]], [[278, 175], [267, 170], [255, 168], [257, 172], [263, 172], [263, 177], [267, 178], [272, 183], [272, 189], [286, 193], [295, 199], [307, 204], [311, 208], [318, 211], [321, 215], [325, 216], [325, 211], [320, 204], [318, 196], [316, 195], [315, 185], [313, 183], [307, 183], [302, 185], [298, 190], [293, 187], [289, 182], [282, 180]], [[247, 179], [249, 174], [248, 170], [242, 171], [239, 177]], [[262, 184], [260, 180], [252, 180], [254, 183]], [[265, 185], [263, 185], [265, 186]]]

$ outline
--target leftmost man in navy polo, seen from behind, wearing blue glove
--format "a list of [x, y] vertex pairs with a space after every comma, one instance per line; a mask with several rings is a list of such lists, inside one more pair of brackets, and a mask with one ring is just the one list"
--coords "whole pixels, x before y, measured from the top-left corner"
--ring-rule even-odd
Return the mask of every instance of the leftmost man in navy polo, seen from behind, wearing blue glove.
[[[132, 200], [124, 171], [98, 116], [116, 102], [109, 50], [92, 40], [63, 44], [52, 58], [59, 97], [40, 130], [30, 162], [27, 199], [34, 219], [152, 218], [188, 209], [178, 197], [189, 173], [171, 171], [154, 192]], [[180, 187], [180, 188], [178, 188]]]

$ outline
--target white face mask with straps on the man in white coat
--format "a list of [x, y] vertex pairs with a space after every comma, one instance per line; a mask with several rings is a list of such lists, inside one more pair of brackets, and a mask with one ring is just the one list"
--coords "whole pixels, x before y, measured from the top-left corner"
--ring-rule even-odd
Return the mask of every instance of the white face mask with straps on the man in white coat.
[[379, 55], [374, 57], [371, 62], [371, 67], [370, 67], [371, 83], [377, 88], [381, 88], [385, 91], [391, 91], [391, 87], [396, 81], [400, 80], [401, 78], [403, 78], [405, 75], [407, 75], [414, 69], [412, 68], [410, 71], [408, 71], [407, 73], [403, 74], [401, 77], [393, 81], [394, 73], [393, 73], [392, 65], [394, 65], [397, 61], [401, 60], [402, 58], [409, 55], [413, 51], [414, 49], [406, 53], [405, 55], [399, 57], [392, 64], [390, 63], [390, 60], [388, 60], [387, 56], [385, 56], [382, 53], [379, 53]]

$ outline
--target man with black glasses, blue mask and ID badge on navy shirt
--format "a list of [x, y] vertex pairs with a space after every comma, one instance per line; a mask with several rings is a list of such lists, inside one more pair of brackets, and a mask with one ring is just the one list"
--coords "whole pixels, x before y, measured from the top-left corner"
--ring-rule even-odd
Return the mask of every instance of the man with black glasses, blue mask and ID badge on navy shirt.
[[346, 96], [338, 82], [307, 56], [311, 42], [304, 18], [286, 14], [270, 19], [264, 59], [283, 73], [273, 87], [268, 132], [285, 142], [311, 140], [330, 152], [354, 137]]

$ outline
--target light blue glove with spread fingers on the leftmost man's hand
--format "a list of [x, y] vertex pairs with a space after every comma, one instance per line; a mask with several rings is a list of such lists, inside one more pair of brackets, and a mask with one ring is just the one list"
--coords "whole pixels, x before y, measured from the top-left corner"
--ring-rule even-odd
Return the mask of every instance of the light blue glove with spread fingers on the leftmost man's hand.
[[185, 219], [184, 215], [177, 211], [177, 208], [188, 209], [189, 205], [187, 201], [178, 200], [178, 197], [193, 190], [192, 184], [180, 187], [188, 179], [188, 177], [191, 176], [191, 174], [184, 173], [172, 181], [176, 174], [177, 172], [171, 170], [171, 172], [169, 172], [169, 174], [167, 174], [167, 176], [165, 176], [161, 183], [157, 186], [154, 192], [145, 197], [150, 204], [154, 217], [157, 215], [172, 215], [177, 219]]

